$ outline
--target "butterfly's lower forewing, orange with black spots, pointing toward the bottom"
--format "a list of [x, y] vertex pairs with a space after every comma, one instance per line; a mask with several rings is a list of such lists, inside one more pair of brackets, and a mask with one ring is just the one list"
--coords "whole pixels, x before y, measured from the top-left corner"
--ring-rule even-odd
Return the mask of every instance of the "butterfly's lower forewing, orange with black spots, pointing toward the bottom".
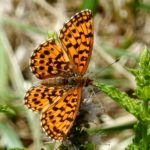
[[44, 131], [54, 140], [62, 140], [73, 125], [80, 104], [81, 88], [71, 88], [52, 107], [42, 113]]

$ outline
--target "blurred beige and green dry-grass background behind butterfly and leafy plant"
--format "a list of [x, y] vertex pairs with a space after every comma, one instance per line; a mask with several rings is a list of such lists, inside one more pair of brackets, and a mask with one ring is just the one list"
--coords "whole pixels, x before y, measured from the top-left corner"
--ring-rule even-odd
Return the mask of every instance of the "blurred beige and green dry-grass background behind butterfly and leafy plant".
[[150, 0], [0, 0], [0, 149], [123, 150], [131, 143], [135, 118], [94, 87], [83, 92], [81, 109], [87, 115], [83, 113], [81, 123], [118, 128], [107, 134], [83, 133], [82, 142], [77, 135], [71, 144], [52, 143], [41, 132], [39, 115], [23, 104], [26, 90], [38, 82], [29, 69], [33, 50], [48, 32], [59, 33], [72, 15], [86, 8], [94, 19], [87, 75], [133, 96], [135, 81], [127, 68], [135, 68], [141, 49], [150, 46]]

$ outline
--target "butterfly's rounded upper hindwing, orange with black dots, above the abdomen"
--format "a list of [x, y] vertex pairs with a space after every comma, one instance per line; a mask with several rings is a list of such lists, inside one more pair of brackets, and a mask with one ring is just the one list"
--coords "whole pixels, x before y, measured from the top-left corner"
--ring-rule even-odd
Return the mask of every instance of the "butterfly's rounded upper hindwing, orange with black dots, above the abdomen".
[[56, 76], [71, 76], [72, 67], [63, 50], [55, 40], [48, 40], [34, 50], [30, 67], [39, 79]]

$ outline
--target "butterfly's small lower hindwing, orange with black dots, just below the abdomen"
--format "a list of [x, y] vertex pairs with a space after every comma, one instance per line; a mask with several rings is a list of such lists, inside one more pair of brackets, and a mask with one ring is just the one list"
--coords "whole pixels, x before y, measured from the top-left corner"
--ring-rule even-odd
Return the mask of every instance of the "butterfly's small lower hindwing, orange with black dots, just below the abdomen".
[[65, 93], [66, 89], [62, 87], [34, 86], [26, 92], [24, 103], [29, 109], [41, 112], [58, 101]]

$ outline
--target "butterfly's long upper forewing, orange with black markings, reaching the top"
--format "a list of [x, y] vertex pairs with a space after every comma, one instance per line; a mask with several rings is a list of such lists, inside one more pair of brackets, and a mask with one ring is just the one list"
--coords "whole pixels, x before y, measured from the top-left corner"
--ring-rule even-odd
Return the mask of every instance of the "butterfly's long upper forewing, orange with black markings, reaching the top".
[[93, 48], [93, 21], [89, 10], [73, 16], [60, 30], [60, 41], [77, 74], [87, 70]]

